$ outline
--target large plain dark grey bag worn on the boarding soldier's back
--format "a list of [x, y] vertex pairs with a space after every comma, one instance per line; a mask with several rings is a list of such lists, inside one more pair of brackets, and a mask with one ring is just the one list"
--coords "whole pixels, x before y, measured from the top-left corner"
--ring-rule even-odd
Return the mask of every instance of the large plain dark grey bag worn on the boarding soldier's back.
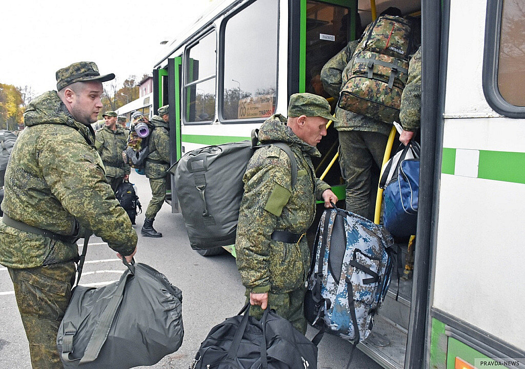
[[[193, 249], [210, 249], [235, 244], [243, 176], [257, 145], [252, 140], [206, 146], [186, 153], [169, 171], [175, 176], [178, 202]], [[290, 147], [271, 143], [285, 151], [291, 162], [292, 187], [297, 181], [297, 161]]]

